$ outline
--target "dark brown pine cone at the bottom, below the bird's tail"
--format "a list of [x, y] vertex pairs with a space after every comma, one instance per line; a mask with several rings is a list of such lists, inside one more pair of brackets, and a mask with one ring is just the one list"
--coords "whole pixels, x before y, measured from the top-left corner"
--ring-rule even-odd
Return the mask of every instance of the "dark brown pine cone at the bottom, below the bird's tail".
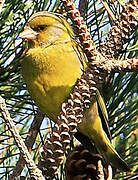
[[[108, 166], [93, 147], [93, 153], [82, 145], [73, 149], [67, 157], [65, 173], [67, 180], [108, 179]], [[100, 165], [100, 162], [102, 165]], [[102, 169], [102, 172], [101, 172]]]

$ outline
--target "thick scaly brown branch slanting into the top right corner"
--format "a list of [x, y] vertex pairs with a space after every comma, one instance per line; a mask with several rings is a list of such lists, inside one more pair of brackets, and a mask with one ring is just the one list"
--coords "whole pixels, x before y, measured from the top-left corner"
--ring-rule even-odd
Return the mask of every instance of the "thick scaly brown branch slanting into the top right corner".
[[137, 7], [137, 0], [130, 0], [127, 5], [124, 6], [122, 13], [99, 49], [104, 56], [108, 58], [118, 58], [123, 45], [130, 41], [130, 35], [132, 35], [138, 26], [136, 18], [138, 12]]

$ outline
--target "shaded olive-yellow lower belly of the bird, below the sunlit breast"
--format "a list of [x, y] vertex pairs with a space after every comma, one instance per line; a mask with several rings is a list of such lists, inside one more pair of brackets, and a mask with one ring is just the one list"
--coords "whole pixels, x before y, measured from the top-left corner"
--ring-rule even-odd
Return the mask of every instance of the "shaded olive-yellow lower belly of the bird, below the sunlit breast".
[[33, 81], [28, 90], [40, 110], [50, 119], [57, 121], [61, 104], [67, 99], [72, 86], [46, 86], [46, 82]]

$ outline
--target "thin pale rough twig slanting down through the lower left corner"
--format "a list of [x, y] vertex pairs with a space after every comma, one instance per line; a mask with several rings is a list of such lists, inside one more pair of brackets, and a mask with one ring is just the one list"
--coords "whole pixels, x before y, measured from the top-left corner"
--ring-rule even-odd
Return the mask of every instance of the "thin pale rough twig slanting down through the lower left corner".
[[42, 172], [35, 165], [30, 153], [28, 152], [27, 147], [25, 146], [25, 143], [23, 142], [21, 136], [19, 135], [19, 132], [16, 129], [13, 120], [10, 117], [10, 114], [6, 108], [5, 100], [1, 96], [0, 96], [0, 112], [2, 114], [3, 119], [5, 120], [6, 125], [8, 126], [8, 129], [10, 130], [11, 134], [14, 137], [14, 140], [20, 150], [20, 153], [22, 154], [24, 160], [26, 161], [26, 165], [30, 172], [30, 176], [34, 179], [44, 180]]

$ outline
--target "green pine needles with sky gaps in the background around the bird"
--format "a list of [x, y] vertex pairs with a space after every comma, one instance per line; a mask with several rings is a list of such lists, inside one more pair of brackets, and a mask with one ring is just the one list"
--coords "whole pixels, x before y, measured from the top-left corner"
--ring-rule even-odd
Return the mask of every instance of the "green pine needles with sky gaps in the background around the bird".
[[[11, 117], [23, 139], [27, 137], [30, 125], [38, 108], [29, 96], [21, 76], [22, 41], [18, 38], [28, 18], [37, 11], [60, 11], [59, 0], [5, 0], [0, 12], [0, 96], [6, 100]], [[87, 1], [84, 18], [91, 32], [95, 45], [100, 48], [101, 42], [107, 36], [113, 25], [112, 17], [107, 13], [101, 1]], [[121, 2], [121, 3], [120, 3]], [[78, 6], [78, 1], [75, 2]], [[122, 1], [107, 1], [115, 17], [123, 9]], [[80, 9], [81, 10], [81, 9]], [[138, 32], [135, 31], [130, 41], [124, 45], [120, 58], [136, 57]], [[131, 172], [123, 173], [114, 170], [114, 179], [136, 178], [137, 173], [137, 81], [136, 72], [116, 73], [112, 75], [111, 83], [105, 84], [103, 95], [109, 113], [109, 124], [113, 144], [126, 160]], [[107, 96], [108, 94], [108, 96]], [[49, 132], [49, 121], [45, 118], [32, 148], [34, 161], [38, 162], [39, 149]], [[9, 174], [16, 166], [19, 150], [0, 116], [0, 179], [9, 179]], [[63, 166], [64, 167], [64, 166]], [[65, 174], [59, 170], [57, 179], [65, 179]], [[24, 170], [22, 176], [27, 177]]]

